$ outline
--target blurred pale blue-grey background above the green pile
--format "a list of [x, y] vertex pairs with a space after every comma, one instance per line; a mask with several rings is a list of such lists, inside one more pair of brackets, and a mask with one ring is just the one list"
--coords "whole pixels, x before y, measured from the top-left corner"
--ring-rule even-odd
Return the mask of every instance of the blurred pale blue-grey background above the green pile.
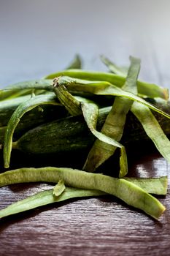
[[80, 53], [106, 70], [104, 54], [140, 78], [170, 87], [169, 0], [0, 0], [0, 86], [63, 69]]

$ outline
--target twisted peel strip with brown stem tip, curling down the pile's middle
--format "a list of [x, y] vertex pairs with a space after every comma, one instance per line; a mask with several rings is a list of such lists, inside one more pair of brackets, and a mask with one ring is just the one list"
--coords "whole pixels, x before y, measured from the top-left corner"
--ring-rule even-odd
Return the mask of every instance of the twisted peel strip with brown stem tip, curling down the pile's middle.
[[[96, 130], [98, 106], [94, 103], [80, 102], [75, 99], [75, 97], [72, 96], [72, 94], [70, 94], [64, 86], [58, 85], [58, 79], [54, 80], [53, 86], [55, 94], [69, 113], [72, 116], [79, 116], [80, 114], [83, 114], [88, 128], [101, 143], [103, 142], [104, 144], [107, 144], [108, 147], [114, 146], [120, 148], [120, 173], [123, 173], [123, 176], [125, 176], [125, 174], [128, 172], [128, 162], [125, 147], [118, 143], [115, 138], [108, 136], [107, 133], [104, 134]], [[103, 154], [103, 152], [100, 153]]]

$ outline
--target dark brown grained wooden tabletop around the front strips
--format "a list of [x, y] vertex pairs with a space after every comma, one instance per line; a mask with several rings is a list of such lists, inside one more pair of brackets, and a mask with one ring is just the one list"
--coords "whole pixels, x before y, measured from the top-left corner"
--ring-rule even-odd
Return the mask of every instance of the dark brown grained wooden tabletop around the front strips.
[[[156, 152], [139, 149], [131, 176], [169, 173]], [[20, 184], [1, 188], [0, 206], [50, 188]], [[69, 200], [0, 221], [1, 255], [169, 255], [170, 194], [158, 197], [166, 212], [155, 221], [112, 196]]]

